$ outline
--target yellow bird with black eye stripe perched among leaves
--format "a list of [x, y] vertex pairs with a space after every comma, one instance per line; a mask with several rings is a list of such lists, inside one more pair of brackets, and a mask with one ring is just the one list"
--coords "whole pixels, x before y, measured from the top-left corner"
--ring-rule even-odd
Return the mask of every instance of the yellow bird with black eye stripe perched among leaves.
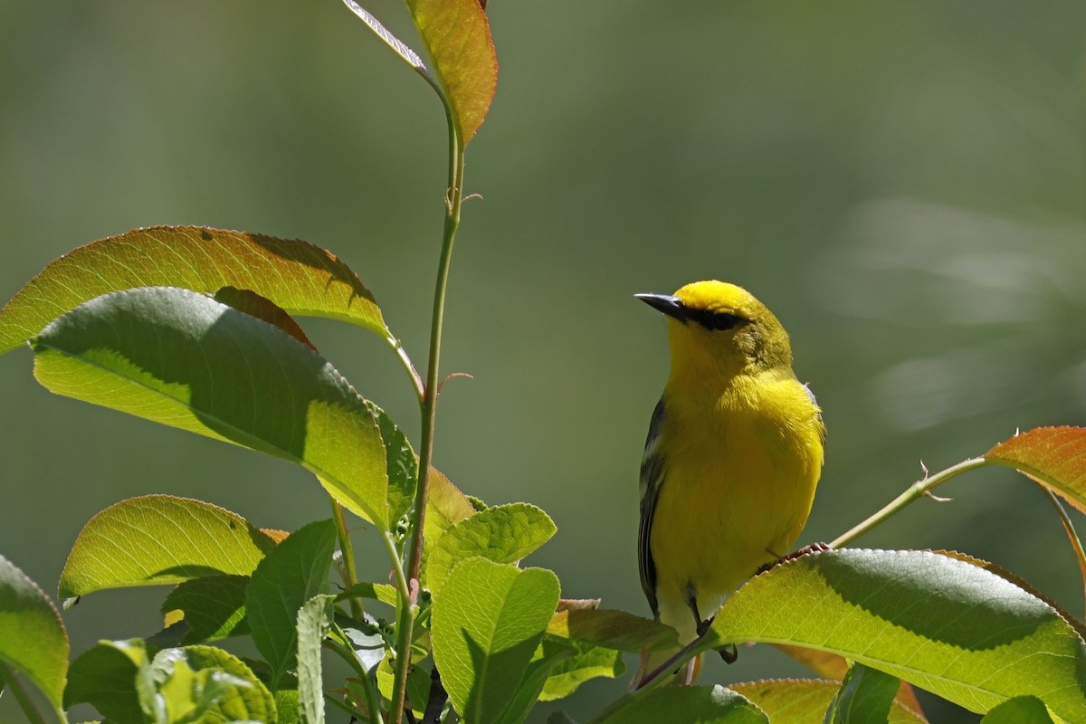
[[[654, 617], [685, 644], [796, 542], [825, 427], [792, 371], [787, 332], [745, 289], [699, 281], [636, 297], [667, 316], [671, 346], [641, 462], [641, 586]], [[667, 659], [653, 658], [642, 676]], [[682, 681], [695, 671], [691, 662]]]

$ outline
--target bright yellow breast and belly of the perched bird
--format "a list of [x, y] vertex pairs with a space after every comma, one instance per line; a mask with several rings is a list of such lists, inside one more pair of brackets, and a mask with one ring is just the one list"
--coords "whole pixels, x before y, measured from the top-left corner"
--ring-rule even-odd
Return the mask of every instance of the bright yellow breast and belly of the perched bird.
[[691, 594], [708, 619], [742, 581], [791, 549], [810, 512], [822, 444], [817, 408], [794, 379], [700, 407], [683, 402], [667, 405], [651, 546], [660, 619], [689, 639]]

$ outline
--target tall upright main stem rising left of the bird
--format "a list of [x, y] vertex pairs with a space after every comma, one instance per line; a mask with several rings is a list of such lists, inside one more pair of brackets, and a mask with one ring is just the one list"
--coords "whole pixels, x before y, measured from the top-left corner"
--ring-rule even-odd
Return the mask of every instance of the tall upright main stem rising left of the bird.
[[[445, 289], [453, 257], [453, 241], [460, 224], [460, 202], [464, 187], [464, 143], [449, 102], [442, 94], [449, 123], [449, 189], [445, 192], [445, 225], [438, 261], [438, 280], [433, 289], [433, 316], [430, 321], [430, 359], [426, 368], [426, 388], [421, 399], [422, 432], [419, 443], [418, 491], [412, 515], [411, 545], [407, 549], [407, 590], [401, 588], [400, 615], [396, 624], [396, 665], [392, 684], [389, 716], [392, 724], [403, 720], [407, 694], [407, 671], [411, 666], [411, 643], [414, 636], [412, 608], [418, 597], [418, 569], [422, 559], [422, 531], [426, 524], [426, 503], [430, 495], [430, 462], [433, 459], [433, 429], [438, 412], [438, 369], [441, 358], [441, 328], [445, 317]], [[407, 598], [404, 598], [404, 593]]]

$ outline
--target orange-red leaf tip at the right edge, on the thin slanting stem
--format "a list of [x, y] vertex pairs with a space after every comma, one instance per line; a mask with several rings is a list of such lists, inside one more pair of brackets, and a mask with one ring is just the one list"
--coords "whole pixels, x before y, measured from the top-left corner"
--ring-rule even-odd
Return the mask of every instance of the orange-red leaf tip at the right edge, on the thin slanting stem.
[[999, 443], [984, 459], [1016, 468], [1086, 512], [1086, 428], [1034, 428]]

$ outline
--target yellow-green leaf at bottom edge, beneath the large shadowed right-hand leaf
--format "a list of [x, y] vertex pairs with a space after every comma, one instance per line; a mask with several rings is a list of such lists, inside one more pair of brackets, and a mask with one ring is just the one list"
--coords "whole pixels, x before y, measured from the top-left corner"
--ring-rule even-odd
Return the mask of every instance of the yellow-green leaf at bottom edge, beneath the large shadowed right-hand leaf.
[[[779, 678], [728, 687], [758, 704], [773, 724], [822, 724], [823, 713], [839, 690], [839, 682], [811, 678]], [[872, 720], [873, 721], [873, 720]], [[927, 724], [927, 720], [895, 701], [887, 724]]]

